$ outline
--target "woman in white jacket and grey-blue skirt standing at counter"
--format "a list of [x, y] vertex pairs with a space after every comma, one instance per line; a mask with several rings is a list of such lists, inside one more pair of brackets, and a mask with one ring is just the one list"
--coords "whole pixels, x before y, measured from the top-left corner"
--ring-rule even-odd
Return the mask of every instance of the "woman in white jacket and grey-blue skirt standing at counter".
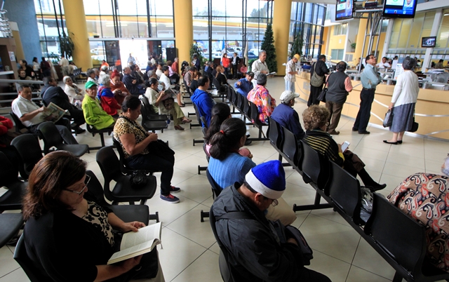
[[412, 129], [413, 114], [415, 114], [416, 100], [420, 91], [418, 76], [412, 70], [415, 65], [416, 60], [413, 58], [406, 58], [402, 62], [404, 72], [396, 80], [391, 104], [388, 107], [393, 113], [393, 123], [390, 126], [393, 137], [390, 140], [384, 140], [384, 143], [402, 144], [404, 133]]

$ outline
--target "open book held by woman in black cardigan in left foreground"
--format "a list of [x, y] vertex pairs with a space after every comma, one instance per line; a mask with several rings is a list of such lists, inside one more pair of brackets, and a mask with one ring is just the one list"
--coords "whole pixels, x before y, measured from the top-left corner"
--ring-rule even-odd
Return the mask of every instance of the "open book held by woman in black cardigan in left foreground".
[[120, 250], [108, 260], [107, 264], [114, 264], [131, 257], [149, 253], [154, 246], [161, 243], [161, 222], [142, 227], [137, 232], [123, 234]]

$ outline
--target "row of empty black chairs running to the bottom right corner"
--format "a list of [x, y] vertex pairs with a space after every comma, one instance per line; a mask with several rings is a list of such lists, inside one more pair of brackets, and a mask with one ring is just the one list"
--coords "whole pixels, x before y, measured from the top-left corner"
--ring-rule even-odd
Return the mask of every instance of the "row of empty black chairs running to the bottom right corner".
[[[449, 278], [448, 272], [432, 266], [425, 258], [427, 239], [424, 226], [377, 193], [373, 193], [373, 210], [369, 219], [363, 220], [361, 187], [356, 177], [309, 145], [296, 142], [293, 133], [272, 119], [269, 137], [272, 146], [302, 175], [304, 182], [316, 189], [313, 205], [294, 205], [293, 210], [333, 208], [396, 270], [394, 282], [402, 278], [406, 281]], [[320, 203], [321, 198], [328, 203]]]

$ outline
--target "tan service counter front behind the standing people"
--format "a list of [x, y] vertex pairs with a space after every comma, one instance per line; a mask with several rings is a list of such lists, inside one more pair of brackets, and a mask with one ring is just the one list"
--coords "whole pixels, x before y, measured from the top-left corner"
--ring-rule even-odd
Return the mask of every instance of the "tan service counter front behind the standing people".
[[[352, 86], [354, 88], [344, 103], [342, 115], [355, 119], [360, 105], [361, 81], [352, 81]], [[385, 83], [377, 86], [370, 123], [382, 127], [393, 90], [394, 86]], [[302, 100], [309, 99], [310, 74], [308, 72], [300, 72], [296, 75], [296, 92], [300, 94]], [[415, 107], [415, 121], [420, 123], [417, 134], [449, 140], [449, 91], [420, 88]]]

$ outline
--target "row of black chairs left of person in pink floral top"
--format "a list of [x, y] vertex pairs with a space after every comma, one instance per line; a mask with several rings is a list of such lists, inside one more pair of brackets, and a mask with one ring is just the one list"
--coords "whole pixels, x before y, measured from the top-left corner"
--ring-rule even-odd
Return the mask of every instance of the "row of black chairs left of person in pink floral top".
[[253, 102], [248, 101], [248, 98], [246, 98], [244, 95], [236, 93], [234, 88], [232, 88], [231, 86], [229, 86], [228, 88], [227, 97], [229, 103], [233, 107], [232, 113], [235, 113], [235, 109], [237, 109], [243, 115], [243, 121], [246, 121], [246, 119], [251, 121], [251, 123], [246, 123], [247, 125], [253, 124], [253, 126], [259, 128], [258, 137], [248, 138], [248, 140], [253, 141], [269, 140], [267, 137], [262, 137], [262, 135], [264, 135], [262, 128], [264, 128], [264, 126], [268, 126], [268, 124], [262, 123], [259, 120], [259, 110], [257, 109], [257, 106]]

